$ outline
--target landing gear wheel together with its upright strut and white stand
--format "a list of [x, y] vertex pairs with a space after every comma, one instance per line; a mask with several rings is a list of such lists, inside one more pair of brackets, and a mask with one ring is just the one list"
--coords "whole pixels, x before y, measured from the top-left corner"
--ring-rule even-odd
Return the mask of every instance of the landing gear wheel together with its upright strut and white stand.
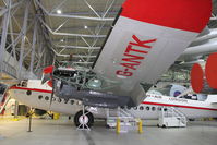
[[85, 110], [84, 106], [83, 109], [74, 116], [74, 124], [77, 126], [77, 130], [89, 130], [93, 123], [94, 116], [89, 111]]

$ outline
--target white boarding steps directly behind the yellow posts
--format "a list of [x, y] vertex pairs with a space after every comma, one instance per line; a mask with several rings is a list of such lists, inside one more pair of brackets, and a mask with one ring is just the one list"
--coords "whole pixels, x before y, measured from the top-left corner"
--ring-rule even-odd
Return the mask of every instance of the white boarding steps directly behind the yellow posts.
[[118, 120], [120, 121], [120, 132], [126, 133], [132, 130], [137, 130], [140, 119], [135, 118], [126, 109], [106, 109], [107, 125], [109, 128], [117, 128]]

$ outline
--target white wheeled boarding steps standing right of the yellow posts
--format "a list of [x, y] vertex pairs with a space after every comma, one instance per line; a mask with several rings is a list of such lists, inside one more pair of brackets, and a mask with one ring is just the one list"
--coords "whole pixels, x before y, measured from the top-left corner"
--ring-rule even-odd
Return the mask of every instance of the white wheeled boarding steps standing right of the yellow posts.
[[174, 107], [162, 107], [159, 111], [158, 125], [162, 128], [186, 126], [186, 117]]

